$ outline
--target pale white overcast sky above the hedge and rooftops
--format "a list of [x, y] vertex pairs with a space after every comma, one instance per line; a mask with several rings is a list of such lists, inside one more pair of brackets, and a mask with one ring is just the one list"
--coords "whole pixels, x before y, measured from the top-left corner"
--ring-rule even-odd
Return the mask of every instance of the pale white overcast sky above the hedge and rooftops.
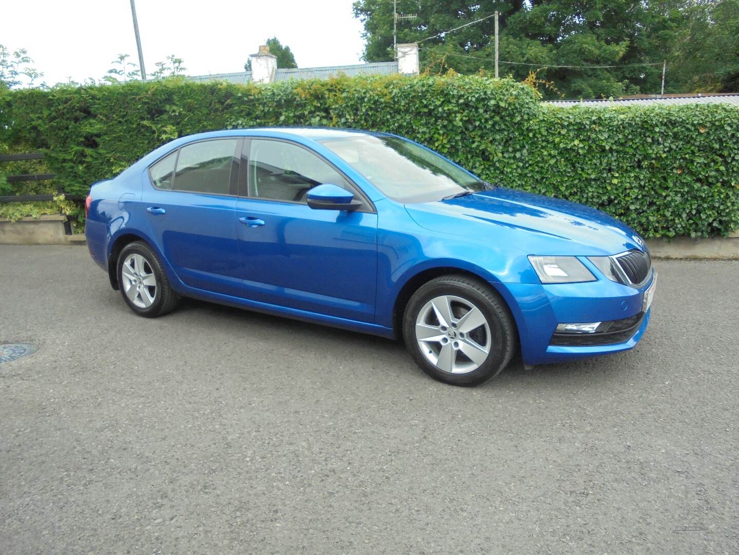
[[[352, 0], [136, 0], [144, 65], [183, 58], [188, 75], [243, 71], [266, 38], [299, 67], [359, 64], [364, 47]], [[99, 79], [118, 54], [138, 63], [130, 0], [7, 1], [0, 44], [26, 48], [41, 81]]]

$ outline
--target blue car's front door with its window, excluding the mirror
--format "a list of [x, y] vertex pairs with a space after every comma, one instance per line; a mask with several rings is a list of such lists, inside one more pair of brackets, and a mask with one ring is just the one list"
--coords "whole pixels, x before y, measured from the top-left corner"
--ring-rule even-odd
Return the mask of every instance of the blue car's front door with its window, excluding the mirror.
[[[284, 140], [246, 140], [236, 202], [245, 297], [372, 323], [377, 214], [314, 210], [307, 191], [333, 183], [358, 189], [313, 151]], [[243, 184], [242, 184], [243, 187]]]

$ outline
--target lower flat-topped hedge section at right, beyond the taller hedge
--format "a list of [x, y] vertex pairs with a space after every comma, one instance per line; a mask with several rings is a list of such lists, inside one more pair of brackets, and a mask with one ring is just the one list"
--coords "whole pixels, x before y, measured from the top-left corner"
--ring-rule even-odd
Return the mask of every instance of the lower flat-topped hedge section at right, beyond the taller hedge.
[[[503, 183], [600, 208], [645, 236], [739, 228], [739, 109], [542, 106]], [[524, 146], [528, 144], [528, 148]]]

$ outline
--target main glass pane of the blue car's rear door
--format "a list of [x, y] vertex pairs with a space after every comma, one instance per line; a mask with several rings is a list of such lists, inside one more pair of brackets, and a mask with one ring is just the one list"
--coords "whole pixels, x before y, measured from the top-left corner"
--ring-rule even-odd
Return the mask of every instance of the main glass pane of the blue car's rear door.
[[177, 191], [229, 194], [238, 142], [238, 139], [203, 140], [183, 146], [177, 158], [174, 188]]

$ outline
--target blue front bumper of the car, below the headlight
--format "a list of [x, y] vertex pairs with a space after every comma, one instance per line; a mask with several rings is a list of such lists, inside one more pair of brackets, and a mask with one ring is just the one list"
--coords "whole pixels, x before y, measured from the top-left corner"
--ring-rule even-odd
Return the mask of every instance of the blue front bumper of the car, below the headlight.
[[[652, 312], [649, 307], [641, 315], [644, 293], [655, 279], [653, 269], [650, 273], [650, 278], [639, 288], [621, 285], [610, 279], [551, 285], [491, 285], [503, 295], [511, 308], [519, 332], [524, 364], [549, 364], [620, 353], [633, 348], [647, 330]], [[554, 339], [557, 324], [624, 321], [630, 318], [637, 319], [637, 323], [630, 327], [626, 336], [618, 338], [619, 342], [604, 338], [604, 344], [566, 345], [557, 344], [562, 341]], [[592, 337], [593, 342], [598, 342], [596, 334]]]

